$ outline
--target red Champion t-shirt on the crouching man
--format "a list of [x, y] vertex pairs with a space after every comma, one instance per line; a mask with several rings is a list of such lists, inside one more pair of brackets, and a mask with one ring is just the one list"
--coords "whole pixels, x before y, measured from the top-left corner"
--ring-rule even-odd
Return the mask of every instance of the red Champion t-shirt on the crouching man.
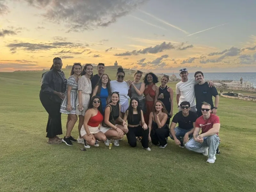
[[200, 116], [196, 119], [196, 127], [202, 128], [202, 133], [212, 129], [213, 124], [220, 123], [220, 118], [217, 115], [210, 114], [210, 117], [204, 120], [203, 116]]

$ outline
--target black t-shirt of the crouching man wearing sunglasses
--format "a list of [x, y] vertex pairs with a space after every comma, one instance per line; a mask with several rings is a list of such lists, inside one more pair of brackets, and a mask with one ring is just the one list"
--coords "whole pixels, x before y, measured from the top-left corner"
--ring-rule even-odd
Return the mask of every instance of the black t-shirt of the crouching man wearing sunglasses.
[[184, 117], [182, 111], [176, 113], [172, 118], [173, 123], [178, 123], [181, 129], [189, 130], [193, 128], [193, 123], [196, 122], [196, 112], [189, 111], [188, 116]]

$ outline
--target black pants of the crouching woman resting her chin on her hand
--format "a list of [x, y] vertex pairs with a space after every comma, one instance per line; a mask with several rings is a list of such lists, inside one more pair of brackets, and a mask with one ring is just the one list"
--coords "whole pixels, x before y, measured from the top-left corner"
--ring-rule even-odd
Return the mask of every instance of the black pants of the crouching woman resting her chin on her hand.
[[151, 131], [150, 133], [150, 137], [151, 137], [151, 141], [154, 145], [157, 145], [158, 144], [158, 141], [160, 143], [160, 146], [164, 146], [167, 141], [166, 141], [166, 137], [169, 136], [169, 129], [167, 127], [167, 125], [165, 125], [164, 127], [162, 128], [157, 128], [157, 129], [154, 129]]

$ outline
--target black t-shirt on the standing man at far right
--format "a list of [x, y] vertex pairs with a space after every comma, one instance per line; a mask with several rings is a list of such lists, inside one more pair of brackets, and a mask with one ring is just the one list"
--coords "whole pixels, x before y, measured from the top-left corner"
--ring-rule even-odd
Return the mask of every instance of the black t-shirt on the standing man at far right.
[[196, 96], [196, 109], [201, 111], [202, 103], [205, 101], [214, 108], [212, 96], [218, 95], [218, 91], [215, 87], [209, 87], [208, 83], [205, 82], [202, 85], [195, 85], [195, 96]]

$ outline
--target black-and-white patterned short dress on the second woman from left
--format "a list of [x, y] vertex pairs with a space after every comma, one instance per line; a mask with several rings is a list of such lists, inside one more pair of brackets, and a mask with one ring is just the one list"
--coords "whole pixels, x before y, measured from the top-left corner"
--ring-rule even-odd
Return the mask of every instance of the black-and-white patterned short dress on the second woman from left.
[[70, 92], [70, 104], [71, 104], [72, 110], [71, 111], [67, 110], [68, 89], [66, 89], [66, 91], [64, 93], [65, 98], [61, 102], [60, 113], [76, 114], [76, 98], [77, 98], [77, 86], [78, 86], [78, 84], [76, 83], [76, 78], [74, 76], [70, 76], [68, 78], [67, 85], [72, 87], [71, 92]]

